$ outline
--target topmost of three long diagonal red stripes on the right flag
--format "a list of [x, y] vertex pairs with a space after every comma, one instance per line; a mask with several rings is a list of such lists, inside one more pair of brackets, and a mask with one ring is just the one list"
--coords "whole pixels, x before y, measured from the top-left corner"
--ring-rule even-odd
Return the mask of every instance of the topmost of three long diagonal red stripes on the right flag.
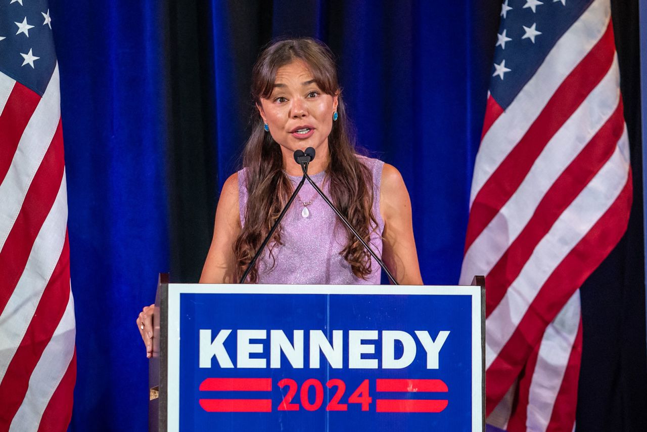
[[539, 117], [477, 193], [470, 212], [465, 251], [514, 194], [556, 131], [604, 78], [614, 55], [613, 28], [609, 21], [604, 36], [560, 84]]

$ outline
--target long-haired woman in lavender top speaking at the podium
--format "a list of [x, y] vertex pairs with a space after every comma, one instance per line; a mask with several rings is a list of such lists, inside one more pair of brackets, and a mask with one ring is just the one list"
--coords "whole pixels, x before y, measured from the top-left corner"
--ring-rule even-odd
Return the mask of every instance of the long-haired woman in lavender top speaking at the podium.
[[[244, 168], [223, 185], [200, 282], [242, 277], [302, 176], [294, 151], [313, 147], [308, 174], [400, 284], [422, 284], [404, 181], [393, 166], [356, 154], [329, 49], [310, 38], [272, 43], [254, 66], [252, 96]], [[306, 183], [247, 281], [379, 284], [380, 267]], [[137, 319], [148, 357], [152, 311]]]

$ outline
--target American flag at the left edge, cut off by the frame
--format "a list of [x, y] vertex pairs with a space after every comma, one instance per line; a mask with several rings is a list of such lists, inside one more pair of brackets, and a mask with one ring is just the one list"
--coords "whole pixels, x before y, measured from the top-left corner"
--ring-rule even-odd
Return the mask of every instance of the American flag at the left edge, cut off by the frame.
[[0, 431], [64, 431], [76, 380], [59, 75], [45, 0], [0, 0]]

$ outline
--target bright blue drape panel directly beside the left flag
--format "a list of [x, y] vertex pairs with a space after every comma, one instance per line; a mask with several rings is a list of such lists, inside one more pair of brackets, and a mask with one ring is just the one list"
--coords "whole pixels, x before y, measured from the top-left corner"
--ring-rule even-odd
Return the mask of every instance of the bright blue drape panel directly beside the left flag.
[[50, 1], [74, 244], [75, 431], [146, 429], [133, 323], [169, 255], [157, 3]]

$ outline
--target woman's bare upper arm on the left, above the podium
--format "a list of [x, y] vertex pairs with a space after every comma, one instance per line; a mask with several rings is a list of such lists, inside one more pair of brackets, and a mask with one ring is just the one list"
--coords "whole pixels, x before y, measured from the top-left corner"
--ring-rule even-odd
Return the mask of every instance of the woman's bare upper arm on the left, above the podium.
[[234, 242], [241, 232], [238, 209], [238, 174], [232, 174], [223, 185], [215, 210], [214, 238], [204, 261], [201, 284], [234, 283], [236, 259]]

